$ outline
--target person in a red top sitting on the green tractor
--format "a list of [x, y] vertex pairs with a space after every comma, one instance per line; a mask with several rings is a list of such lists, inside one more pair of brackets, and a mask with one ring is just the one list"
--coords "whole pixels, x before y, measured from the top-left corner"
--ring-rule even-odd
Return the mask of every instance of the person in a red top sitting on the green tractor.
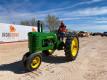
[[66, 26], [63, 23], [63, 21], [61, 21], [61, 24], [60, 24], [59, 29], [58, 29], [58, 34], [59, 34], [60, 40], [63, 41], [66, 32], [67, 32]]

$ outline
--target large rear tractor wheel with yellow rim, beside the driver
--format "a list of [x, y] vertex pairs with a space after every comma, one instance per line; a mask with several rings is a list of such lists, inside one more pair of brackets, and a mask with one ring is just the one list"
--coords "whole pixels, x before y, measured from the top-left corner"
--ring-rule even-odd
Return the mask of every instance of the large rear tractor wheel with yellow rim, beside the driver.
[[67, 38], [65, 42], [65, 55], [67, 60], [75, 60], [79, 50], [79, 39], [77, 36]]

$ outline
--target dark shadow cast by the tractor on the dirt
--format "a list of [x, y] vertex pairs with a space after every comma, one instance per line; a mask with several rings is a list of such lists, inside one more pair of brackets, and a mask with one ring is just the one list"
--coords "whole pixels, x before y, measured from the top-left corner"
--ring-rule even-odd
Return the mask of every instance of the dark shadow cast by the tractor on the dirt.
[[[48, 56], [42, 58], [43, 62], [46, 63], [65, 63], [65, 57], [63, 56]], [[25, 67], [23, 66], [22, 61], [13, 62], [10, 64], [2, 64], [0, 65], [0, 71], [12, 71], [16, 74], [27, 73]]]

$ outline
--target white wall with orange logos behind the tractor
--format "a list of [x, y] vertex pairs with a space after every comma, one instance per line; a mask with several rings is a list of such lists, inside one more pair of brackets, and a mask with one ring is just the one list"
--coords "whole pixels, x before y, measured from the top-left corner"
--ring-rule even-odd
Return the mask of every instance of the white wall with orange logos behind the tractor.
[[28, 32], [37, 31], [37, 27], [0, 23], [0, 43], [25, 41]]

